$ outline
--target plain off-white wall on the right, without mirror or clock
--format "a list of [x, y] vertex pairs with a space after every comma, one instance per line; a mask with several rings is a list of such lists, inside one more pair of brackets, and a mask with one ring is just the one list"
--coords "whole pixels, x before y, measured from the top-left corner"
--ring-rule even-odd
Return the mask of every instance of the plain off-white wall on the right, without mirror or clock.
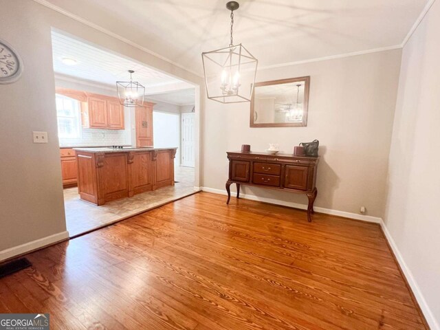
[[440, 2], [404, 47], [385, 223], [412, 289], [440, 329]]

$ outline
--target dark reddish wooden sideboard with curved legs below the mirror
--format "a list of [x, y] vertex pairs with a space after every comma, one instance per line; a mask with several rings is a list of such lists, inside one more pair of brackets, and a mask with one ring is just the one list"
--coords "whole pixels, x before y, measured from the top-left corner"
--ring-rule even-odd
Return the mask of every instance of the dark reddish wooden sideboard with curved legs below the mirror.
[[228, 204], [230, 185], [236, 184], [236, 198], [240, 197], [240, 185], [258, 186], [307, 195], [307, 219], [314, 212], [316, 170], [319, 157], [294, 156], [288, 154], [228, 152], [229, 179], [226, 181]]

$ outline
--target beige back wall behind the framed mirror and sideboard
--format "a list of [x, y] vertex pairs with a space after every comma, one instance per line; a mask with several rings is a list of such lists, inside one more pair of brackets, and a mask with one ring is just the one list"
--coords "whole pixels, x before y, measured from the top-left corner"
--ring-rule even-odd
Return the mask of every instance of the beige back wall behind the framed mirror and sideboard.
[[[316, 206], [383, 217], [386, 172], [399, 80], [400, 50], [261, 70], [257, 81], [311, 76], [307, 127], [250, 128], [250, 104], [205, 100], [203, 186], [224, 190], [226, 151], [250, 144], [263, 151], [278, 143], [292, 153], [300, 142], [320, 140]], [[233, 187], [234, 188], [234, 187]], [[305, 203], [301, 195], [243, 187], [245, 194]]]

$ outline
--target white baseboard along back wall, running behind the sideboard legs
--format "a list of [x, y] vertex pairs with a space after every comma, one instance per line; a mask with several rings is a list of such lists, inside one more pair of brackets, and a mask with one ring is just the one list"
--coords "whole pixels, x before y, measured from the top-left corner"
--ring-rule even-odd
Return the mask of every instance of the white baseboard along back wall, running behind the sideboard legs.
[[[218, 194], [218, 195], [228, 195], [226, 190], [220, 190], [220, 189], [214, 189], [214, 188], [208, 188], [208, 187], [200, 187], [200, 188], [202, 191], [212, 192], [212, 193]], [[236, 194], [236, 192], [232, 193], [232, 191], [231, 191], [231, 196], [233, 196], [235, 194]], [[300, 210], [307, 210], [307, 205], [300, 204], [300, 203], [294, 203], [292, 201], [280, 201], [279, 199], [258, 197], [255, 195], [247, 195], [247, 194], [242, 194], [242, 193], [240, 193], [240, 198], [250, 199], [252, 201], [263, 201], [265, 203], [271, 203], [271, 204], [276, 204], [276, 205], [281, 205], [281, 206], [288, 206], [289, 208], [299, 208]], [[356, 213], [345, 212], [345, 211], [340, 211], [340, 210], [331, 210], [329, 208], [320, 208], [318, 206], [315, 206], [314, 210], [316, 212], [336, 215], [338, 217], [362, 220], [362, 221], [373, 222], [373, 223], [382, 223], [382, 218], [371, 217], [369, 215], [364, 215], [364, 214], [356, 214]]]

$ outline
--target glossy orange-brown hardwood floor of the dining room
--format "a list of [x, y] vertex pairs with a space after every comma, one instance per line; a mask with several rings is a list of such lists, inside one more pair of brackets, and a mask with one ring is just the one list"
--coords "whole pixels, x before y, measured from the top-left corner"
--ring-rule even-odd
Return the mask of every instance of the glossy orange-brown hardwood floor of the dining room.
[[0, 313], [51, 329], [428, 329], [380, 227], [201, 192], [28, 254]]

